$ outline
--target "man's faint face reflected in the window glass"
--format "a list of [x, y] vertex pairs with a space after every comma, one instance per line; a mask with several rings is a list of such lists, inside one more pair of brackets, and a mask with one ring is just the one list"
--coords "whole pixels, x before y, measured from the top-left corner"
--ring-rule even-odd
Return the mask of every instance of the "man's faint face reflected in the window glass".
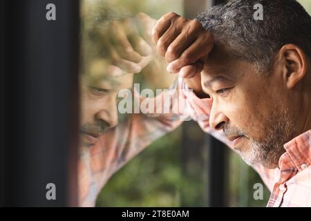
[[80, 144], [92, 146], [107, 128], [117, 125], [117, 93], [132, 84], [132, 74], [82, 80]]

